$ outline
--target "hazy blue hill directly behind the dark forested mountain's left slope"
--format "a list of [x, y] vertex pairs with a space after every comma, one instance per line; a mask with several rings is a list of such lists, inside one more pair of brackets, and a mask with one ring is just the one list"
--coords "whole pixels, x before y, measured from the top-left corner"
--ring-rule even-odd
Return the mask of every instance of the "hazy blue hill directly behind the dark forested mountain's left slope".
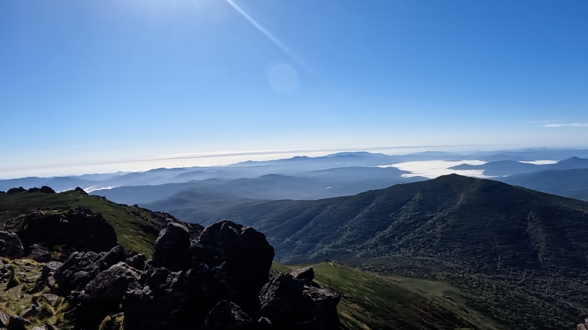
[[[129, 186], [93, 191], [109, 200], [125, 204], [146, 204], [158, 201], [156, 210], [168, 210], [166, 199], [190, 191], [196, 194], [218, 196], [221, 200], [235, 198], [262, 200], [316, 200], [348, 196], [362, 191], [379, 189], [397, 183], [426, 180], [423, 177], [402, 177], [407, 172], [395, 167], [341, 167], [338, 169], [308, 171], [296, 176], [266, 174], [253, 179], [206, 179], [159, 186]], [[183, 173], [187, 175], [190, 173]], [[199, 173], [199, 175], [201, 175]], [[186, 207], [198, 204], [188, 201]]]

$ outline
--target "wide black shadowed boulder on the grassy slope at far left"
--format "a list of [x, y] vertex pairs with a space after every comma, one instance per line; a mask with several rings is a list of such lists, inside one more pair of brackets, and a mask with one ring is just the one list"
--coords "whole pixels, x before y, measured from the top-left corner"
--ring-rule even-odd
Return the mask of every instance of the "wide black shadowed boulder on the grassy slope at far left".
[[8, 221], [25, 247], [40, 244], [51, 251], [108, 251], [116, 245], [114, 228], [100, 213], [76, 207], [68, 213], [32, 211]]

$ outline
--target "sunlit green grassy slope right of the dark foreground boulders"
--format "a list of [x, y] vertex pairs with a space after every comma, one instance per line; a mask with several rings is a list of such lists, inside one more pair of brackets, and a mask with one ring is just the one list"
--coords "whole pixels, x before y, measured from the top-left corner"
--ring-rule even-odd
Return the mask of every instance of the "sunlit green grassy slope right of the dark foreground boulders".
[[[467, 308], [463, 293], [444, 282], [382, 277], [333, 262], [312, 266], [316, 282], [342, 295], [339, 316], [351, 330], [501, 329]], [[298, 267], [274, 263], [272, 269]]]

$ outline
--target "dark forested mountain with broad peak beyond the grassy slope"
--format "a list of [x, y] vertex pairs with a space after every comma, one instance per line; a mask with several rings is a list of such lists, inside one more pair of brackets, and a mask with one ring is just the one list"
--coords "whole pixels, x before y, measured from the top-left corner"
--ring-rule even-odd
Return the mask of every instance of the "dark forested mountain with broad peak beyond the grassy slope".
[[[184, 220], [199, 206], [176, 200]], [[588, 314], [588, 203], [457, 175], [316, 201], [203, 206], [263, 231], [279, 261], [325, 258], [449, 282], [509, 328], [565, 329]]]

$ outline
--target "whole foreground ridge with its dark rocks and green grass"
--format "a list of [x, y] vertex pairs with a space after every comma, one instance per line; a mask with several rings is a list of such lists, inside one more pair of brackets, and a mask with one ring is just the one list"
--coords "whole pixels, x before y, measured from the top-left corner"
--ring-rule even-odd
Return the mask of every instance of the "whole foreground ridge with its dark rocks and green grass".
[[229, 221], [81, 190], [15, 189], [0, 211], [0, 328], [500, 329], [447, 284], [272, 264], [265, 236]]

